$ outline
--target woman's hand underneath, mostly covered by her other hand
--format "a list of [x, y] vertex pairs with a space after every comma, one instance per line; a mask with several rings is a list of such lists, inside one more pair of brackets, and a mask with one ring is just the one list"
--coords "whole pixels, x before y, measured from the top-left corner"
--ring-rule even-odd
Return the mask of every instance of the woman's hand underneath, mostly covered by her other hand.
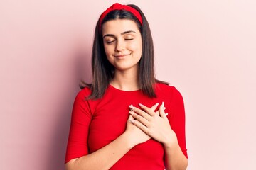
[[[154, 106], [151, 107], [152, 111], [155, 111], [158, 106], [158, 103], [156, 103]], [[156, 113], [159, 111], [156, 111]], [[145, 132], [143, 132], [141, 129], [137, 128], [132, 122], [134, 121], [134, 118], [132, 115], [129, 115], [129, 118], [127, 120], [127, 128], [126, 131], [129, 135], [129, 140], [132, 142], [132, 144], [138, 145], [140, 143], [146, 142], [151, 137], [149, 135], [146, 135]]]

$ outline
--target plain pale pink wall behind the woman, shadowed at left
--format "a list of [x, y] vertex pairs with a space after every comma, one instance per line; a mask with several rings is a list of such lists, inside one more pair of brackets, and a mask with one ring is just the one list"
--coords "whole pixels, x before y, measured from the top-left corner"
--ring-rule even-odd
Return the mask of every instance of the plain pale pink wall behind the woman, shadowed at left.
[[[256, 169], [256, 1], [119, 2], [142, 8], [156, 75], [183, 94], [188, 169]], [[64, 169], [93, 29], [112, 3], [0, 1], [0, 169]]]

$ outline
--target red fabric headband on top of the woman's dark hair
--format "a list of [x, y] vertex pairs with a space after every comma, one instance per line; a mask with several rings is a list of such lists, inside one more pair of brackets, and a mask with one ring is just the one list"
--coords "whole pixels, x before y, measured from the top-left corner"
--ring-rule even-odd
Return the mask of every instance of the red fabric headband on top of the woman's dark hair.
[[100, 28], [101, 28], [101, 23], [103, 18], [105, 18], [105, 16], [107, 16], [107, 13], [110, 13], [111, 11], [114, 10], [125, 10], [125, 11], [129, 11], [130, 13], [134, 14], [134, 16], [136, 16], [136, 18], [139, 20], [139, 22], [142, 24], [142, 16], [139, 13], [139, 11], [137, 11], [136, 9], [132, 8], [131, 6], [127, 6], [127, 5], [121, 5], [118, 3], [113, 4], [112, 6], [110, 6], [110, 8], [107, 8], [106, 11], [104, 11], [101, 16], [100, 16]]

